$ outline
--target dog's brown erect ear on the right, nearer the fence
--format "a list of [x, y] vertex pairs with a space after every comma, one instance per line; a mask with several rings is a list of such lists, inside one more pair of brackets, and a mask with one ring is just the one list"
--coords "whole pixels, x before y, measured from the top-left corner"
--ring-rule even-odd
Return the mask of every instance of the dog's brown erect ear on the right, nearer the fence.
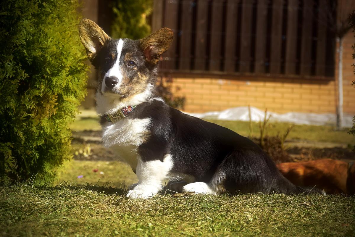
[[141, 48], [148, 62], [157, 64], [160, 55], [169, 49], [174, 33], [169, 28], [162, 28], [141, 39]]

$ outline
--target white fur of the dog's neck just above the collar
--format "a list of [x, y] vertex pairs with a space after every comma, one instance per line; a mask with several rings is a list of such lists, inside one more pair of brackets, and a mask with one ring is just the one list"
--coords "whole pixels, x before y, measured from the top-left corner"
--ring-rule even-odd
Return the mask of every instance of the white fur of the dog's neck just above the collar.
[[120, 109], [129, 105], [139, 105], [154, 97], [154, 86], [148, 84], [144, 92], [133, 95], [130, 98], [103, 95], [97, 92], [95, 95], [96, 110], [98, 114], [116, 114]]

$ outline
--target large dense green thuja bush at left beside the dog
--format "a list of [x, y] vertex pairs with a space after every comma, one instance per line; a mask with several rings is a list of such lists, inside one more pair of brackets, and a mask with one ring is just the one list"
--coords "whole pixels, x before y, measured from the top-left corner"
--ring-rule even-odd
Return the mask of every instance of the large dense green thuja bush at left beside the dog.
[[53, 181], [85, 96], [77, 1], [0, 3], [0, 180]]

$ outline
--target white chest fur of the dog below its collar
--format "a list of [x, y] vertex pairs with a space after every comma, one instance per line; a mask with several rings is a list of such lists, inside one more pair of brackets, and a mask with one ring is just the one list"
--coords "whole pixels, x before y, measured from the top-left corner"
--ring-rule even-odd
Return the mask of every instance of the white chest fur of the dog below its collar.
[[149, 136], [150, 118], [124, 118], [115, 123], [105, 123], [102, 141], [105, 147], [111, 147], [133, 170], [137, 166], [137, 148]]

